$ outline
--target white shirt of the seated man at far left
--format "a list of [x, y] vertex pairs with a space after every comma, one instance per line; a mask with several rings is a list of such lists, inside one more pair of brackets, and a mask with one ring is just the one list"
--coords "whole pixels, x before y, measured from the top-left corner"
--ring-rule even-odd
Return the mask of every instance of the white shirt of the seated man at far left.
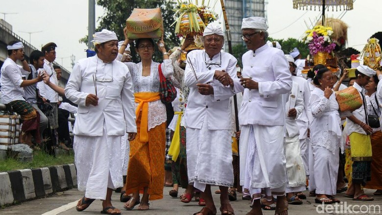
[[23, 83], [22, 73], [29, 73], [24, 71], [23, 67], [17, 65], [11, 58], [7, 58], [1, 67], [1, 102], [8, 104], [14, 100], [24, 99], [24, 88], [20, 87]]

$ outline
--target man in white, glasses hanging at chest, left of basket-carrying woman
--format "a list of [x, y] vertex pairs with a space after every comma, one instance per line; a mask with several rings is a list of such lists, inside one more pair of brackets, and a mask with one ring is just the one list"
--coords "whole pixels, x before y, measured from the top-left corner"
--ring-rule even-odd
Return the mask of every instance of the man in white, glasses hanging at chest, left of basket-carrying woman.
[[137, 134], [133, 81], [128, 67], [116, 61], [116, 33], [103, 29], [94, 35], [93, 57], [73, 67], [65, 96], [78, 105], [74, 123], [73, 149], [79, 191], [85, 195], [76, 210], [83, 211], [101, 199], [103, 214], [120, 214], [113, 207], [113, 190], [123, 186], [121, 137]]

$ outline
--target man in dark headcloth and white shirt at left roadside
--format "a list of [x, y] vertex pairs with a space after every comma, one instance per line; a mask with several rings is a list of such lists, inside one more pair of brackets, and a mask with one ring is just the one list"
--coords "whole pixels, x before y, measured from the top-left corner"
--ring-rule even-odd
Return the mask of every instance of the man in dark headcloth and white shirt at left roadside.
[[[44, 60], [44, 68], [39, 69], [39, 72], [46, 72], [46, 74], [49, 76], [49, 81], [55, 85], [58, 86], [58, 80], [56, 76], [56, 72], [53, 68], [53, 61], [56, 59], [56, 47], [57, 45], [55, 43], [48, 43], [43, 48], [41, 48], [41, 51], [45, 55]], [[37, 88], [39, 89], [40, 96], [42, 96], [43, 101], [47, 102], [49, 101], [49, 104], [52, 106], [51, 113], [45, 113], [48, 117], [49, 126], [50, 126], [50, 138], [53, 146], [58, 146], [58, 134], [57, 134], [57, 128], [58, 128], [58, 93], [55, 92], [53, 89], [48, 87], [44, 82], [39, 82], [37, 84]]]

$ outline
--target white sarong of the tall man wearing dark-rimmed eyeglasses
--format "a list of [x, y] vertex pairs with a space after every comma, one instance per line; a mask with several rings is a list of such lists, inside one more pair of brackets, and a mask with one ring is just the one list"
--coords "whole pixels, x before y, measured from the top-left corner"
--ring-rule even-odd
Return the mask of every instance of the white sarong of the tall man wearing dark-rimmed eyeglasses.
[[261, 189], [284, 195], [287, 183], [284, 126], [242, 125], [240, 134], [240, 185], [258, 199]]

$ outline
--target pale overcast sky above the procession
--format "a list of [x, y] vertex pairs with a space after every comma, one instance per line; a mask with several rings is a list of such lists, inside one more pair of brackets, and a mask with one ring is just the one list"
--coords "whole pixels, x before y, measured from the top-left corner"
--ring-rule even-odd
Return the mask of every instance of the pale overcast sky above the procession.
[[[31, 33], [34, 47], [40, 49], [44, 44], [55, 42], [58, 46], [56, 62], [67, 70], [72, 71], [72, 55], [75, 61], [86, 57], [84, 50], [87, 46], [78, 41], [88, 33], [88, 0], [0, 0], [0, 5], [0, 19], [4, 19], [1, 13], [17, 13], [6, 14], [5, 21], [25, 41], [29, 42], [29, 34], [24, 32], [42, 31]], [[315, 23], [321, 14], [318, 9], [293, 9], [292, 0], [268, 0], [266, 8], [268, 32], [275, 39], [301, 38], [308, 29], [307, 24]], [[347, 11], [341, 19], [349, 25], [348, 47], [362, 50], [367, 38], [382, 31], [378, 11], [381, 8], [382, 0], [355, 0], [354, 9]], [[221, 15], [220, 1], [215, 5], [215, 12]], [[326, 14], [330, 18], [339, 18], [343, 15], [341, 12]], [[103, 14], [103, 8], [96, 6], [96, 22]], [[224, 24], [224, 21], [220, 20], [220, 23]]]

